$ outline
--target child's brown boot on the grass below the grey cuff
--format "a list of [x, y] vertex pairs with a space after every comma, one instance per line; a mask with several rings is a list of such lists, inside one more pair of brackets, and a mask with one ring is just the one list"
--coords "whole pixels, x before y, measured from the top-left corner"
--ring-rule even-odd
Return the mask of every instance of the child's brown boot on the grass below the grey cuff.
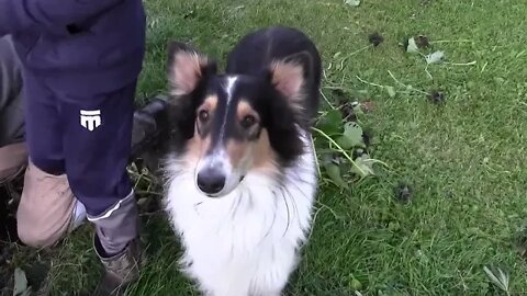
[[139, 278], [141, 246], [139, 239], [132, 240], [124, 250], [115, 255], [105, 257], [97, 235], [93, 246], [104, 266], [104, 276], [99, 283], [96, 296], [124, 295], [126, 287]]

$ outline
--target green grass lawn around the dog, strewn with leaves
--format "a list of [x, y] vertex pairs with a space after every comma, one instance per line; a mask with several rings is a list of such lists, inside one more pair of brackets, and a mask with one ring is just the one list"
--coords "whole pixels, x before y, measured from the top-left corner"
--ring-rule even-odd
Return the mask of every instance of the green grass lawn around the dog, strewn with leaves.
[[[312, 36], [323, 55], [322, 117], [346, 102], [367, 106], [357, 116], [370, 130], [369, 155], [388, 167], [374, 164], [374, 175], [349, 189], [322, 171], [314, 229], [288, 295], [527, 295], [517, 243], [527, 235], [527, 1], [145, 5], [141, 98], [166, 92], [170, 39], [191, 42], [224, 65], [240, 36], [284, 24]], [[369, 38], [375, 32], [378, 46]], [[422, 54], [440, 50], [445, 60], [427, 66], [424, 56], [406, 53], [405, 42], [417, 35], [430, 43]], [[315, 135], [323, 163], [329, 144]], [[148, 262], [130, 295], [198, 295], [178, 272], [179, 244], [162, 213], [143, 220]], [[89, 295], [94, 287], [100, 267], [90, 231], [85, 226], [54, 252], [52, 295]], [[37, 258], [23, 254], [15, 258], [23, 269]], [[508, 283], [492, 283], [485, 266], [502, 270]]]

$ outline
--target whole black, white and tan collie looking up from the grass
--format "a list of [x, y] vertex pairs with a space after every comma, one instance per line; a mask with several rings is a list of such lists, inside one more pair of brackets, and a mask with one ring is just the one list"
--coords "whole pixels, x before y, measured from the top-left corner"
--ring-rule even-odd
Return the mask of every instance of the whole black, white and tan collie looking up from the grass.
[[321, 56], [302, 32], [242, 38], [224, 73], [189, 45], [169, 46], [172, 149], [165, 206], [204, 295], [278, 296], [311, 229]]

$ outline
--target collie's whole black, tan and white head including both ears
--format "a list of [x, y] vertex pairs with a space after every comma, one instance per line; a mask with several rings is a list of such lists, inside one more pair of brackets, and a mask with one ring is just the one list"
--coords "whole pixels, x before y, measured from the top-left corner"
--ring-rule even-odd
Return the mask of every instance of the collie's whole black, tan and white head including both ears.
[[298, 54], [259, 76], [228, 76], [191, 46], [170, 45], [171, 119], [186, 138], [181, 157], [203, 194], [224, 196], [249, 172], [274, 173], [302, 155], [309, 60]]

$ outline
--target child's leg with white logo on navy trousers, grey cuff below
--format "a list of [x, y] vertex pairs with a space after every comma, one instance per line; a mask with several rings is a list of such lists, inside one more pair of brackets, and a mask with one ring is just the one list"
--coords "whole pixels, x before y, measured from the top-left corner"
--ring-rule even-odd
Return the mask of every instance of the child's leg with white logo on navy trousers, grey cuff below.
[[112, 93], [60, 98], [66, 174], [96, 226], [94, 248], [117, 286], [138, 276], [138, 214], [126, 166], [135, 83]]

